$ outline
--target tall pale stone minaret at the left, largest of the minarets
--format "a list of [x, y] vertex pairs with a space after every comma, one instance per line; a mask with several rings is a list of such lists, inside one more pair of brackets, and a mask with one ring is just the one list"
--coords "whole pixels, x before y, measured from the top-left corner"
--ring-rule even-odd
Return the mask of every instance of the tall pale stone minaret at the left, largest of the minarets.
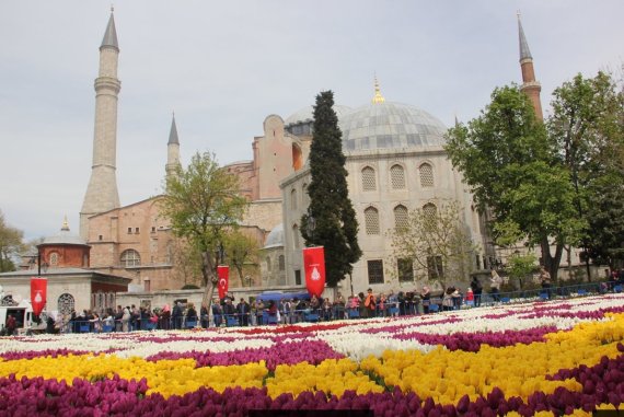
[[122, 82], [117, 79], [119, 46], [115, 20], [111, 19], [100, 46], [100, 73], [95, 79], [95, 132], [91, 179], [80, 210], [80, 236], [89, 240], [89, 217], [119, 207], [116, 178], [117, 95]]

